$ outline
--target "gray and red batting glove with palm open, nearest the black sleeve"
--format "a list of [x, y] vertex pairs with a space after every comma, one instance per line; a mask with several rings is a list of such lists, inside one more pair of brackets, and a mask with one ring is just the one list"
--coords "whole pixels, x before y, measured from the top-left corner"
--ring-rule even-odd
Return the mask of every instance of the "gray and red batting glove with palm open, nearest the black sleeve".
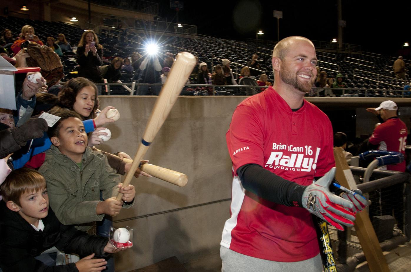
[[332, 226], [343, 231], [344, 226], [353, 226], [355, 220], [354, 204], [351, 201], [332, 194], [328, 187], [334, 180], [335, 167], [322, 178], [308, 185], [302, 193], [302, 206], [310, 213], [326, 220]]

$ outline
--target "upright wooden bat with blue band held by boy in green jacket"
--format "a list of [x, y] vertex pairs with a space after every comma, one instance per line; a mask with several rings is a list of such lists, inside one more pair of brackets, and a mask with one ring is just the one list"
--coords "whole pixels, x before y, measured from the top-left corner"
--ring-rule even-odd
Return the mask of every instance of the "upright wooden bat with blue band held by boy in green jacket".
[[[151, 112], [151, 117], [148, 120], [147, 126], [145, 127], [143, 139], [139, 144], [137, 153], [134, 156], [133, 163], [127, 173], [123, 186], [128, 186], [139, 167], [140, 161], [148, 150], [148, 147], [152, 143], [155, 135], [157, 135], [167, 116], [169, 115], [171, 108], [173, 107], [175, 101], [178, 98], [187, 78], [191, 74], [196, 65], [195, 57], [188, 52], [178, 53], [177, 58], [173, 66], [171, 67], [169, 76], [167, 77], [166, 83], [164, 84], [159, 97], [154, 105]], [[117, 200], [120, 201], [122, 194], [117, 195]]]

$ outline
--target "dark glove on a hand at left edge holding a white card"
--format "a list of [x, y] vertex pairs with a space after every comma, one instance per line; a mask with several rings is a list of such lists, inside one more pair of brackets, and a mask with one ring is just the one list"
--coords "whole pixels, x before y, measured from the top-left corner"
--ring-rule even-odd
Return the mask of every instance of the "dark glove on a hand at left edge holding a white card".
[[28, 140], [43, 137], [47, 128], [47, 122], [43, 118], [30, 118], [21, 127], [12, 129], [12, 134], [20, 146], [25, 146]]

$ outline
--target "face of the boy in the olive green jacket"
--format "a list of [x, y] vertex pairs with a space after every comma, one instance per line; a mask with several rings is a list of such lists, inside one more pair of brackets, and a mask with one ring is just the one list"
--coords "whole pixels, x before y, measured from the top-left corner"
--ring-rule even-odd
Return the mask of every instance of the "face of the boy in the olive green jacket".
[[67, 155], [74, 162], [81, 162], [88, 144], [83, 122], [76, 117], [63, 120], [58, 130], [58, 136], [51, 137], [51, 142], [63, 155]]

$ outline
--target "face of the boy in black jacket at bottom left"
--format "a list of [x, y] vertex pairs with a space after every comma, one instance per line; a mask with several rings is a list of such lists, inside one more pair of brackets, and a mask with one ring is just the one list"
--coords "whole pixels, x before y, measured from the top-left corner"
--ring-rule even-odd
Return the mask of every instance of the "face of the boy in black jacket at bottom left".
[[[18, 205], [17, 205], [18, 206]], [[48, 215], [48, 194], [47, 189], [38, 190], [37, 192], [25, 192], [20, 196], [20, 205], [18, 214], [27, 222], [38, 226], [39, 219]]]

